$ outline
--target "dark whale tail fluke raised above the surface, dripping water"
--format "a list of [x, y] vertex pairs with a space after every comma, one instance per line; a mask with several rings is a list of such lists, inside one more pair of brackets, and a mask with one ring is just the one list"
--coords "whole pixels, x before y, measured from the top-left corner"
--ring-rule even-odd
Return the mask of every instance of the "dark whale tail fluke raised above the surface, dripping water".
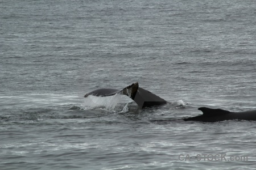
[[162, 105], [167, 103], [167, 101], [162, 99], [161, 97], [156, 96], [155, 94], [152, 94], [150, 91], [144, 90], [143, 88], [139, 87], [138, 82], [133, 83], [130, 86], [127, 86], [126, 88], [123, 88], [123, 90], [117, 90], [113, 88], [101, 88], [101, 89], [89, 92], [88, 94], [85, 94], [84, 97], [87, 97], [89, 95], [112, 96], [115, 94], [129, 96], [141, 108], [152, 107], [152, 106]]

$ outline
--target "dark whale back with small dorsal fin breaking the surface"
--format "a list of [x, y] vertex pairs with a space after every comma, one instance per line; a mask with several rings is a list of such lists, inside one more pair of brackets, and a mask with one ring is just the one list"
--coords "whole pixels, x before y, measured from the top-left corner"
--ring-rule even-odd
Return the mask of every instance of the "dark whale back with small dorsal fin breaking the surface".
[[245, 112], [229, 112], [222, 109], [199, 108], [203, 115], [184, 118], [184, 121], [219, 122], [225, 120], [256, 121], [256, 110]]

